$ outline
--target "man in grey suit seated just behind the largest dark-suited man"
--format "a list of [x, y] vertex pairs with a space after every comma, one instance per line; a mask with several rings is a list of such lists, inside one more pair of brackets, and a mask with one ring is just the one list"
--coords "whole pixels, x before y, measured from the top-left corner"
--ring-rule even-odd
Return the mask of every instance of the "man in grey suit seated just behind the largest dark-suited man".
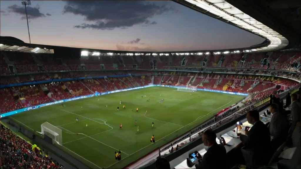
[[276, 103], [269, 106], [269, 111], [273, 116], [270, 124], [268, 125], [268, 129], [270, 131], [270, 135], [273, 137], [271, 144], [275, 151], [285, 141], [289, 125], [287, 115], [279, 112], [279, 107]]

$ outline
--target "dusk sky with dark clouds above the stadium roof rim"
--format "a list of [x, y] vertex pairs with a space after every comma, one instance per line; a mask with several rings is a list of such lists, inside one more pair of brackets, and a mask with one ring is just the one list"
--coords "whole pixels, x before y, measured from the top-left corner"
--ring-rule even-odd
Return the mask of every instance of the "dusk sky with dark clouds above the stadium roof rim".
[[[0, 35], [29, 43], [22, 1], [0, 1]], [[264, 41], [172, 1], [31, 1], [31, 43], [121, 51], [244, 48]]]

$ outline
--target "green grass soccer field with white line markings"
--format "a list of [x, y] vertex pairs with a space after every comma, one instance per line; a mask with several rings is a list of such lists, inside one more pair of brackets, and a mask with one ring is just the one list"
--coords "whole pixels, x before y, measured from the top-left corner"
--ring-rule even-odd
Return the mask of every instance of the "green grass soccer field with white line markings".
[[[147, 101], [149, 96], [150, 101]], [[61, 104], [45, 106], [10, 117], [39, 132], [41, 124], [46, 121], [57, 126], [63, 135], [63, 145], [59, 147], [68, 153], [72, 151], [70, 154], [75, 157], [80, 156], [77, 158], [92, 168], [116, 163], [114, 152], [120, 149], [123, 160], [112, 168], [121, 168], [243, 98], [214, 92], [192, 93], [176, 91], [175, 88], [149, 87], [70, 101], [64, 103], [65, 107]], [[162, 99], [164, 101], [159, 103]], [[122, 129], [119, 129], [119, 124], [123, 125]], [[138, 126], [139, 133], [136, 134]], [[153, 134], [156, 143], [152, 144]]]

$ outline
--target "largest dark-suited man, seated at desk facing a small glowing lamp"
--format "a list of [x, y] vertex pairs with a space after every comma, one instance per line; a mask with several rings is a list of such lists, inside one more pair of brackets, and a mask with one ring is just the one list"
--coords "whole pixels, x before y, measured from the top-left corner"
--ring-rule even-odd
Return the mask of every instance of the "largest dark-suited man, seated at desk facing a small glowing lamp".
[[247, 112], [247, 120], [253, 127], [247, 134], [247, 139], [243, 141], [244, 147], [241, 152], [246, 161], [247, 167], [258, 168], [268, 164], [271, 155], [271, 137], [268, 127], [259, 120], [259, 112], [250, 110]]

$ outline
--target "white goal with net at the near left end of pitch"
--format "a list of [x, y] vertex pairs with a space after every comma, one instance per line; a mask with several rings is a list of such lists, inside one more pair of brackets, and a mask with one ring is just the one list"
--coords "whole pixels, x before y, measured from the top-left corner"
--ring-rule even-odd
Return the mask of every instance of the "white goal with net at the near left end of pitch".
[[41, 131], [42, 134], [52, 138], [54, 141], [56, 141], [58, 144], [62, 145], [63, 144], [63, 139], [62, 139], [62, 130], [55, 127], [54, 125], [45, 122], [41, 124]]

